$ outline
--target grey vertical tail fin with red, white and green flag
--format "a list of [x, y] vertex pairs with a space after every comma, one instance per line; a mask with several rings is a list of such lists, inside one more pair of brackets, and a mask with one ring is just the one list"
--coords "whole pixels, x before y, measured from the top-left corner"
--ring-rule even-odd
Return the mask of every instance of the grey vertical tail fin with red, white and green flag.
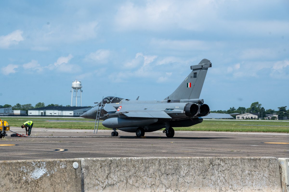
[[193, 71], [165, 100], [198, 99], [209, 67], [212, 67], [212, 63], [208, 59], [203, 59], [199, 64], [192, 65]]

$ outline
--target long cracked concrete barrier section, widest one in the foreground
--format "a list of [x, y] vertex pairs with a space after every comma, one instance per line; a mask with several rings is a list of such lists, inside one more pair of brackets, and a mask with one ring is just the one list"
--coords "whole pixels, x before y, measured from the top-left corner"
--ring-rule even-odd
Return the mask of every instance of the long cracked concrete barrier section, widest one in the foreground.
[[84, 191], [281, 191], [276, 158], [81, 159]]

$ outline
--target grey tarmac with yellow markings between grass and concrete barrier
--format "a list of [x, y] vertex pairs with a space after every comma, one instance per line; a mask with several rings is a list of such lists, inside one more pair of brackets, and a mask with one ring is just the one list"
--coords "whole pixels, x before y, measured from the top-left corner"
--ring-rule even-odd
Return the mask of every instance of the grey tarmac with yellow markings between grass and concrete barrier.
[[[25, 130], [11, 127], [24, 134]], [[32, 128], [31, 136], [102, 136], [94, 138], [0, 139], [0, 160], [67, 159], [89, 157], [289, 157], [289, 134], [176, 131], [167, 138], [162, 131], [135, 133], [111, 130]], [[107, 136], [107, 137], [103, 137]]]

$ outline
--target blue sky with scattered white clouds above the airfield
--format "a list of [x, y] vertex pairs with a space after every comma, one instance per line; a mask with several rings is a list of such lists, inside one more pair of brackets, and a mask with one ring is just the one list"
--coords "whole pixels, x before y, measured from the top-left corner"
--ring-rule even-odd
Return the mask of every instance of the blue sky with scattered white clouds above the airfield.
[[211, 110], [289, 107], [289, 1], [0, 1], [1, 105], [162, 100], [203, 58]]

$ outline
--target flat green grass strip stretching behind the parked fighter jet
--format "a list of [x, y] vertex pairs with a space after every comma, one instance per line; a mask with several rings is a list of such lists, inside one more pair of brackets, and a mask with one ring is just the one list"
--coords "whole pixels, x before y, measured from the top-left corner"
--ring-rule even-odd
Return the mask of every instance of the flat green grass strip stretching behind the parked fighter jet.
[[[84, 118], [36, 118], [36, 117], [1, 117], [11, 127], [20, 127], [27, 120], [34, 122], [33, 128], [94, 129], [95, 122]], [[73, 122], [79, 121], [79, 122]], [[102, 126], [99, 129], [108, 129]], [[176, 131], [225, 131], [225, 132], [279, 132], [289, 133], [289, 122], [278, 120], [204, 120], [192, 127], [174, 128]], [[108, 129], [111, 130], [111, 129]]]

